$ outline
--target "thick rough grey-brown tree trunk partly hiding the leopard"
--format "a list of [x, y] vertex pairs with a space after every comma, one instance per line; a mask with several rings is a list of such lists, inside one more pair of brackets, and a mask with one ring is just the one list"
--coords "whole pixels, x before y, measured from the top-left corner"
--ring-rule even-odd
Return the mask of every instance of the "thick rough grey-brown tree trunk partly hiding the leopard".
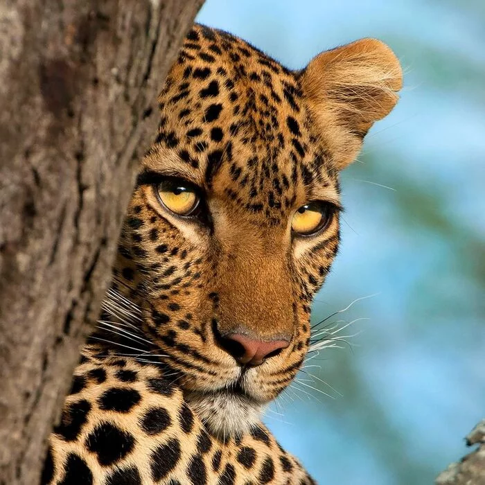
[[0, 3], [0, 484], [36, 484], [203, 0]]

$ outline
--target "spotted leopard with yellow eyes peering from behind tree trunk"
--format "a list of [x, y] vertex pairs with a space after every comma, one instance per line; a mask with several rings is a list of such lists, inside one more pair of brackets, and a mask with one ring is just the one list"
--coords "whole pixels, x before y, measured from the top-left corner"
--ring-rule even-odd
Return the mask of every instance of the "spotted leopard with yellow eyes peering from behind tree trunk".
[[191, 28], [42, 484], [315, 483], [262, 416], [311, 352], [310, 306], [340, 243], [340, 171], [402, 84], [378, 39], [291, 70]]

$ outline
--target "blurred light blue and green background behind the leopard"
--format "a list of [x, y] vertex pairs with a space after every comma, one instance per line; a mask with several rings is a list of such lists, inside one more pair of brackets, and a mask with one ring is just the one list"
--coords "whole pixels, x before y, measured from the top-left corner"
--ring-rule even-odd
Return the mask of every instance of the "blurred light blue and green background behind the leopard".
[[341, 252], [313, 310], [376, 294], [329, 321], [369, 320], [266, 421], [319, 483], [431, 484], [485, 415], [485, 2], [207, 0], [197, 21], [294, 69], [360, 37], [405, 67], [398, 107], [342, 174]]

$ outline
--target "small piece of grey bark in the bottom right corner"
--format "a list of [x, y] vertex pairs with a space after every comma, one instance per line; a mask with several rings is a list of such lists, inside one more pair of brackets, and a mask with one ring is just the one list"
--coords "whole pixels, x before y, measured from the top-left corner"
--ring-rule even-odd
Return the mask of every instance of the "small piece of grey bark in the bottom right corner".
[[466, 436], [467, 446], [477, 446], [436, 478], [436, 485], [485, 485], [485, 419]]

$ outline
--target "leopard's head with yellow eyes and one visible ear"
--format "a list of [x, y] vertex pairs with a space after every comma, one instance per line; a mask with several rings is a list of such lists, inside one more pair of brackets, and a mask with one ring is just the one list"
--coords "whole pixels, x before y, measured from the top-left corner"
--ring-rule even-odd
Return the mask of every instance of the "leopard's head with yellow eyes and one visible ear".
[[[240, 434], [287, 387], [339, 243], [338, 174], [396, 103], [394, 54], [367, 39], [289, 71], [195, 26], [159, 96], [114, 289], [213, 433]], [[153, 349], [152, 348], [152, 349]]]

